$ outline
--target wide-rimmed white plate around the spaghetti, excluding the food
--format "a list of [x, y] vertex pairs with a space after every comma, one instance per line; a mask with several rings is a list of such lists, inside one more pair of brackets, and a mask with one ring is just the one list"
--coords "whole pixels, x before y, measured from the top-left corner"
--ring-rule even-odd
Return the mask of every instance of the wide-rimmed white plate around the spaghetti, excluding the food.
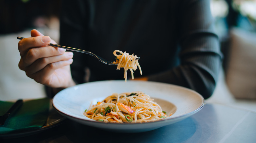
[[[90, 103], [96, 104], [112, 93], [142, 91], [155, 99], [163, 111], [172, 116], [160, 121], [148, 123], [104, 123], [89, 119], [83, 115]], [[63, 116], [79, 123], [112, 132], [138, 133], [160, 128], [185, 119], [204, 106], [203, 97], [188, 88], [171, 84], [110, 80], [76, 85], [57, 93], [52, 101], [53, 107]]]

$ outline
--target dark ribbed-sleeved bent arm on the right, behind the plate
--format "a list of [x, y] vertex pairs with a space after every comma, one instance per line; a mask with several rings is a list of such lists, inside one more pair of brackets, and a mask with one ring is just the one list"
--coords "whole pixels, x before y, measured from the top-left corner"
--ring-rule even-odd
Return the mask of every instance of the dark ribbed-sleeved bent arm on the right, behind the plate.
[[221, 66], [219, 40], [214, 32], [209, 1], [185, 1], [180, 9], [181, 16], [177, 19], [180, 65], [151, 75], [148, 80], [191, 88], [207, 99], [215, 89]]

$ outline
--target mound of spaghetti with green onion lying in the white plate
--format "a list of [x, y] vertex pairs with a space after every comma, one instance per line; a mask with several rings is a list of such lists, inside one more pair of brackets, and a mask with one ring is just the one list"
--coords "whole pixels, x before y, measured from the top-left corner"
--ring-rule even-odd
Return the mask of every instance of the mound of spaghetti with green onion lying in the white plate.
[[153, 100], [143, 92], [113, 93], [102, 102], [90, 105], [84, 115], [93, 120], [114, 123], [151, 122], [168, 117]]

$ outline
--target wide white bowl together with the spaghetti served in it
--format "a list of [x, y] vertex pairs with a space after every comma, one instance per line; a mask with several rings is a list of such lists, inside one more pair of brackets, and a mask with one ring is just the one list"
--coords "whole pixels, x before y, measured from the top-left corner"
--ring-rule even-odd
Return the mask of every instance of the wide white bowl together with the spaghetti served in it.
[[188, 118], [203, 97], [171, 84], [127, 80], [97, 81], [66, 88], [52, 100], [64, 117], [113, 132], [155, 130]]

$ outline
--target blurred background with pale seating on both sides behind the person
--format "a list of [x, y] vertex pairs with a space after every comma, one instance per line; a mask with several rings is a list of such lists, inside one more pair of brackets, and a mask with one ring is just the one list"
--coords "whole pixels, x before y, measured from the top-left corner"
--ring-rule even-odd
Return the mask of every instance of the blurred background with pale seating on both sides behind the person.
[[[61, 0], [0, 0], [0, 100], [45, 97], [44, 87], [18, 68], [16, 38], [32, 29], [59, 41]], [[256, 0], [211, 0], [223, 69], [206, 103], [256, 112]]]

